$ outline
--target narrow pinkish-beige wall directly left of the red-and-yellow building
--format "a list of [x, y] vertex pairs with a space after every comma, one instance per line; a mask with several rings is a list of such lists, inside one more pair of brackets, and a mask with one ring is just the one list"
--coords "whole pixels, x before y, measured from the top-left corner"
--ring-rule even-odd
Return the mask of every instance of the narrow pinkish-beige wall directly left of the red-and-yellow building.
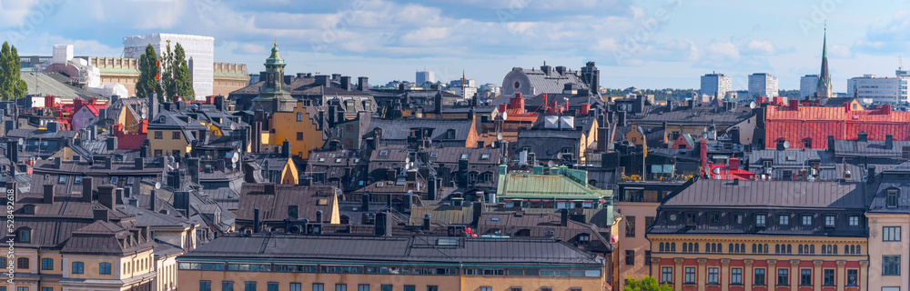
[[[657, 216], [657, 206], [660, 203], [650, 202], [616, 202], [613, 206], [622, 213], [623, 219], [619, 228], [619, 244], [617, 244], [617, 254], [619, 260], [615, 264], [619, 266], [619, 289], [625, 287], [627, 278], [642, 279], [645, 276], [651, 276], [651, 260], [645, 256], [646, 252], [651, 251], [651, 242], [645, 234], [648, 233], [648, 226], [645, 223], [647, 217]], [[626, 232], [626, 226], [629, 223], [630, 216], [635, 217], [635, 234], [629, 236]], [[633, 265], [626, 264], [626, 252], [635, 253]]]

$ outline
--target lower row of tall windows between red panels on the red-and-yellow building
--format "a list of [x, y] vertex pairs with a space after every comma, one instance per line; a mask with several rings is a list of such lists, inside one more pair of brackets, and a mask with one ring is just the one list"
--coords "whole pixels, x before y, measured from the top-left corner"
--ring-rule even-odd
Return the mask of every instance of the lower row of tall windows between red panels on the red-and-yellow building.
[[[764, 268], [755, 268], [753, 274], [753, 285], [754, 286], [765, 286], [768, 284]], [[799, 273], [799, 286], [813, 286], [813, 269], [804, 268], [800, 269]], [[707, 276], [704, 278], [705, 282], [709, 285], [719, 285], [720, 282], [720, 268], [718, 267], [708, 267]], [[824, 269], [822, 270], [822, 286], [834, 286], [836, 281], [834, 269]], [[858, 282], [859, 270], [857, 269], [848, 269], [846, 277], [846, 286], [859, 286]], [[683, 268], [682, 284], [697, 284], [699, 278], [696, 275], [696, 268], [694, 266], [685, 266]], [[673, 283], [673, 267], [664, 266], [661, 268], [661, 283], [672, 284]], [[778, 268], [777, 269], [777, 281], [775, 282], [776, 286], [790, 286], [790, 268]], [[743, 268], [733, 267], [730, 269], [730, 285], [743, 285]]]

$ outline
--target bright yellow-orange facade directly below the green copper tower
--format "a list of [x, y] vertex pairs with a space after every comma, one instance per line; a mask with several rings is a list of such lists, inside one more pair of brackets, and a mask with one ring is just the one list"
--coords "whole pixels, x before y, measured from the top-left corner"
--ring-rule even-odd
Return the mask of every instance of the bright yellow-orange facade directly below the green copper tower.
[[317, 125], [316, 119], [317, 116], [309, 115], [307, 106], [298, 102], [294, 111], [276, 112], [272, 115], [272, 132], [270, 135], [262, 135], [262, 140], [268, 140], [268, 144], [272, 146], [281, 146], [287, 139], [290, 142], [291, 153], [308, 159], [310, 150], [322, 147], [326, 142], [322, 138], [322, 129]]

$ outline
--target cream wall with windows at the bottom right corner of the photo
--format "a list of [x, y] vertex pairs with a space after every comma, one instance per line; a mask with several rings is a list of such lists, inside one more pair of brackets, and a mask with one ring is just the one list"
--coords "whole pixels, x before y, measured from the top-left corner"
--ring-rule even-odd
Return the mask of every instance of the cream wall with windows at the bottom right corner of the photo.
[[[910, 241], [910, 215], [885, 215], [885, 214], [866, 214], [869, 222], [869, 290], [883, 290], [883, 287], [900, 287], [901, 290], [908, 290], [907, 272], [910, 270], [910, 249], [906, 247]], [[885, 242], [883, 241], [883, 227], [900, 226], [900, 241]], [[882, 256], [900, 256], [901, 259], [901, 276], [882, 276]]]

